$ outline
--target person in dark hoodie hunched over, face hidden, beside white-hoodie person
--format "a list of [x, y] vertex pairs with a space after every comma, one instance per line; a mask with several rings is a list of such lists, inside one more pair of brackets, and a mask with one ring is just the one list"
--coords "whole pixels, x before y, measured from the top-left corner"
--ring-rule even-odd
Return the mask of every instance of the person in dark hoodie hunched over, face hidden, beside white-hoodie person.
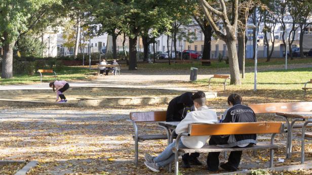
[[[192, 93], [184, 94], [173, 98], [168, 105], [166, 122], [181, 122], [188, 111], [194, 111], [194, 102], [191, 99]], [[199, 153], [191, 153], [182, 155], [182, 167], [190, 168], [190, 163], [194, 165], [202, 165], [198, 160]]]

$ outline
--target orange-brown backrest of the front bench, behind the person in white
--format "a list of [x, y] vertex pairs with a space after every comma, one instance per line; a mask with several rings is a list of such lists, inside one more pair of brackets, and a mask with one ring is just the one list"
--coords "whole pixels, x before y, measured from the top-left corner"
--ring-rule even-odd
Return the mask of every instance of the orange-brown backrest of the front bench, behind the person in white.
[[190, 124], [189, 136], [283, 133], [282, 122]]

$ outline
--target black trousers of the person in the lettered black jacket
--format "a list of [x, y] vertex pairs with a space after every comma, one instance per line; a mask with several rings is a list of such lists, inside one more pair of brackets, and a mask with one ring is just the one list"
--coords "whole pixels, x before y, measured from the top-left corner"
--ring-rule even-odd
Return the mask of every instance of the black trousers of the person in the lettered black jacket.
[[[229, 137], [222, 138], [220, 136], [211, 136], [209, 145], [224, 145], [227, 144]], [[219, 154], [220, 152], [210, 152], [207, 157], [207, 166], [210, 170], [217, 170], [219, 167]], [[242, 151], [231, 151], [228, 157], [228, 164], [239, 167], [241, 162]]]

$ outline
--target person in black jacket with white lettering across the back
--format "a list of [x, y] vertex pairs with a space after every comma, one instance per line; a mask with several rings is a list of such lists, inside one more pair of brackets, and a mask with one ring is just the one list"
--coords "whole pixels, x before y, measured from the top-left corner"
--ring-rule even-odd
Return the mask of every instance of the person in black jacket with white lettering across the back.
[[[248, 106], [242, 105], [242, 97], [231, 94], [227, 98], [231, 107], [225, 110], [222, 123], [256, 122], [255, 112]], [[255, 145], [256, 134], [211, 136], [209, 145], [219, 145], [226, 148], [249, 147]], [[220, 152], [210, 152], [207, 157], [207, 166], [210, 171], [217, 171], [219, 166]], [[242, 151], [231, 151], [228, 161], [221, 163], [220, 167], [227, 171], [236, 171], [241, 161]]]

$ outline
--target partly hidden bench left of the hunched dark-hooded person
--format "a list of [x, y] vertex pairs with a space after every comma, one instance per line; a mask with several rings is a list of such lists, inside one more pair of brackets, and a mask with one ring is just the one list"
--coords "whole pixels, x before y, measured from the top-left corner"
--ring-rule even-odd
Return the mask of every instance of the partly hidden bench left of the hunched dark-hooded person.
[[143, 142], [146, 140], [170, 140], [170, 131], [163, 126], [158, 126], [166, 130], [166, 134], [138, 134], [138, 127], [136, 123], [151, 123], [151, 122], [163, 122], [166, 121], [167, 111], [148, 111], [148, 112], [130, 112], [130, 122], [132, 122], [134, 127], [134, 153], [135, 153], [135, 165], [138, 166], [138, 142]]

